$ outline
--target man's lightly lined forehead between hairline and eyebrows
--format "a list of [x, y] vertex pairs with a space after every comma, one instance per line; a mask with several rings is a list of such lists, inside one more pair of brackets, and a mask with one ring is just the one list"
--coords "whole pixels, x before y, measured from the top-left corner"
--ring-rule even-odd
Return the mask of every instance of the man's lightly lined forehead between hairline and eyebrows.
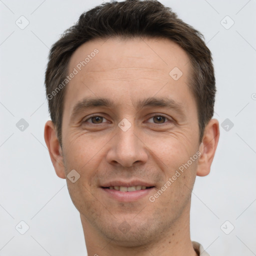
[[[68, 73], [76, 69], [77, 74], [68, 83], [64, 106], [71, 111], [83, 97], [102, 95], [134, 104], [134, 99], [141, 96], [167, 93], [186, 104], [190, 95], [188, 62], [186, 52], [169, 39], [109, 38], [85, 42], [68, 64]], [[177, 98], [178, 94], [181, 97]]]

